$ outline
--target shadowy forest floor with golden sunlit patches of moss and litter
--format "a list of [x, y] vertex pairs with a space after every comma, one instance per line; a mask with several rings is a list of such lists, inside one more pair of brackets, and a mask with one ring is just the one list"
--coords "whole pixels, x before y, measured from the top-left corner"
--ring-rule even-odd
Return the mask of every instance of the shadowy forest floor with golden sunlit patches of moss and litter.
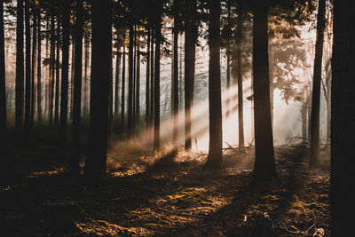
[[224, 169], [212, 171], [202, 152], [152, 154], [121, 142], [96, 183], [69, 178], [51, 146], [17, 148], [12, 169], [0, 170], [11, 174], [0, 179], [0, 235], [329, 236], [329, 151], [317, 170], [307, 153], [276, 146], [279, 180], [255, 187], [253, 146], [225, 149]]

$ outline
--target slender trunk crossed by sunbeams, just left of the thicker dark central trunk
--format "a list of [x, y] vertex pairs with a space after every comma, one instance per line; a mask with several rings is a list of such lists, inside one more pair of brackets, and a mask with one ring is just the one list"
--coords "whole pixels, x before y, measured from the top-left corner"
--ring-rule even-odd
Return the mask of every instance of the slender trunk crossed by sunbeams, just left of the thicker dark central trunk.
[[[177, 4], [177, 0], [174, 0], [174, 4]], [[177, 29], [177, 15], [174, 16], [174, 28], [173, 28], [173, 39], [174, 39], [174, 59], [173, 59], [173, 81], [172, 81], [172, 99], [173, 99], [173, 134], [172, 134], [172, 144], [177, 147], [178, 138], [178, 29]]]

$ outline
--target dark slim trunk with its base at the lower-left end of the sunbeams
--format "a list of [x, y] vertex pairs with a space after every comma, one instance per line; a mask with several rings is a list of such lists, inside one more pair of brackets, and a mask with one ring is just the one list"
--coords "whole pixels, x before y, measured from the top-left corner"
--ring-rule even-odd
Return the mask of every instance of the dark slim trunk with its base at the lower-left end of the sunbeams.
[[[162, 6], [161, 6], [162, 7]], [[159, 19], [155, 31], [155, 59], [154, 59], [154, 150], [161, 147], [161, 40], [162, 21]]]

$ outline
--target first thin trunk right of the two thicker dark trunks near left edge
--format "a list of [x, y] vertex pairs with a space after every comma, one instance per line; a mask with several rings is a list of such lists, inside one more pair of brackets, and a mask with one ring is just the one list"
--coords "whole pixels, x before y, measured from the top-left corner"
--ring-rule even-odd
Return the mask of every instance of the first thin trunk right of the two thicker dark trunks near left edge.
[[32, 26], [32, 68], [31, 68], [31, 115], [30, 115], [30, 127], [33, 127], [36, 108], [36, 50], [37, 50], [37, 14], [36, 10], [33, 10], [33, 26]]

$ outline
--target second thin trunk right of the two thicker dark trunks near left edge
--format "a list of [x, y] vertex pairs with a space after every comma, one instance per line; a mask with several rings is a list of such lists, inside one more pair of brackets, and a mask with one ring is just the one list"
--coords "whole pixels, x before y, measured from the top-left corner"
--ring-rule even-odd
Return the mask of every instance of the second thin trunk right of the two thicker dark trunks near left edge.
[[37, 12], [38, 26], [37, 26], [37, 120], [42, 122], [42, 31], [41, 31], [41, 11]]

